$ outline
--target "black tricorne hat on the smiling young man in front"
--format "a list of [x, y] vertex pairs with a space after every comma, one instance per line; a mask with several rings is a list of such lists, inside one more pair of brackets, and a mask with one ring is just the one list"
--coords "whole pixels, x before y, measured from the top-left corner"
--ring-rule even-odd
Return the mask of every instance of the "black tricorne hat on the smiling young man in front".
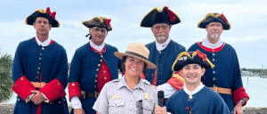
[[174, 61], [172, 70], [179, 71], [187, 64], [196, 63], [205, 69], [213, 69], [214, 64], [206, 58], [205, 53], [201, 53], [199, 50], [195, 52], [182, 52]]

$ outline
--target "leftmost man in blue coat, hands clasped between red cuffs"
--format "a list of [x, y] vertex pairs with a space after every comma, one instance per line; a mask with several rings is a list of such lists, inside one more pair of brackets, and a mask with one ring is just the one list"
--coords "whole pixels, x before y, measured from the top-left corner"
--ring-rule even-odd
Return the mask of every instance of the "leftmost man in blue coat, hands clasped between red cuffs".
[[56, 12], [38, 9], [25, 22], [36, 28], [36, 37], [20, 42], [12, 64], [13, 91], [18, 94], [14, 114], [68, 114], [65, 87], [68, 59], [63, 46], [49, 37], [59, 28]]

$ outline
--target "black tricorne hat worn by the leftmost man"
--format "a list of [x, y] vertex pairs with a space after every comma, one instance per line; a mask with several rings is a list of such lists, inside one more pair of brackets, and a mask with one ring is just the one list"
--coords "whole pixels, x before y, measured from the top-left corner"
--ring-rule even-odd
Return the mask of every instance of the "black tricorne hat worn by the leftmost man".
[[51, 22], [52, 28], [59, 28], [60, 22], [58, 20], [55, 20], [55, 15], [56, 12], [50, 12], [50, 7], [47, 7], [46, 11], [38, 9], [36, 10], [36, 12], [33, 12], [25, 19], [25, 23], [28, 25], [33, 25], [33, 22], [36, 21], [37, 17], [44, 17]]

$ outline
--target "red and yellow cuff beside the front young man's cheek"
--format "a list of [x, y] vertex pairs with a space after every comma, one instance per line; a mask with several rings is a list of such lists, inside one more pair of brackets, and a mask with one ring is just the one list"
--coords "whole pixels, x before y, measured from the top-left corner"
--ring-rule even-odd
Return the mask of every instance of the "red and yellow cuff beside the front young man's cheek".
[[172, 85], [175, 89], [181, 90], [184, 84], [184, 78], [181, 77], [180, 72], [174, 72], [173, 76], [167, 81], [169, 85]]

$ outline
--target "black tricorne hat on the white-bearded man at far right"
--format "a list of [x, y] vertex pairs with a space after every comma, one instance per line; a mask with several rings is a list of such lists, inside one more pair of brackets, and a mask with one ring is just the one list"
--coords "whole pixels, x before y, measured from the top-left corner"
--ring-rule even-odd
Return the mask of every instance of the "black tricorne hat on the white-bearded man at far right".
[[224, 30], [231, 28], [230, 22], [226, 19], [223, 13], [207, 13], [206, 17], [198, 22], [198, 28], [206, 28], [206, 25], [208, 25], [210, 22], [222, 23]]

